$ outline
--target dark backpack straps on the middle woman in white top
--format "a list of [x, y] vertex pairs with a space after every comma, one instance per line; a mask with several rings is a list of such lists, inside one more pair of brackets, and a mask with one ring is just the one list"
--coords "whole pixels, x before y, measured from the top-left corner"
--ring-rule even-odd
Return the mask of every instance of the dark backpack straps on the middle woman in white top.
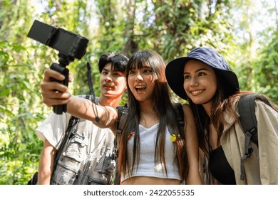
[[[174, 103], [174, 112], [175, 112], [175, 119], [178, 123], [178, 129], [179, 132], [184, 131], [185, 127], [185, 120], [184, 120], [184, 114], [183, 114], [183, 109], [182, 109], [182, 104], [180, 103]], [[125, 122], [128, 118], [128, 106], [127, 104], [123, 106], [116, 107], [118, 109], [118, 123], [117, 123], [117, 132], [116, 132], [116, 137], [115, 137], [115, 153], [118, 154], [118, 145], [120, 143], [120, 135], [122, 134], [123, 127], [125, 127]], [[117, 155], [118, 156], [118, 155]], [[116, 172], [115, 172], [115, 185], [120, 184], [120, 176], [118, 173], [118, 162], [116, 164]]]

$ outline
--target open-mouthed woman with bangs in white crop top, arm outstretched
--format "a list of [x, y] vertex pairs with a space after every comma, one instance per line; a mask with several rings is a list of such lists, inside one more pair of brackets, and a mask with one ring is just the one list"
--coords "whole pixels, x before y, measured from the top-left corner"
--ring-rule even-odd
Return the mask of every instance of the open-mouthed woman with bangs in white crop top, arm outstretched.
[[[189, 105], [183, 104], [185, 127], [179, 132], [163, 58], [152, 50], [138, 51], [128, 61], [125, 75], [128, 117], [120, 135], [121, 184], [200, 184], [194, 118]], [[63, 80], [58, 72], [45, 73], [41, 85], [45, 104], [67, 104], [69, 113], [116, 134], [117, 109], [71, 96], [66, 86], [51, 82], [50, 77]]]

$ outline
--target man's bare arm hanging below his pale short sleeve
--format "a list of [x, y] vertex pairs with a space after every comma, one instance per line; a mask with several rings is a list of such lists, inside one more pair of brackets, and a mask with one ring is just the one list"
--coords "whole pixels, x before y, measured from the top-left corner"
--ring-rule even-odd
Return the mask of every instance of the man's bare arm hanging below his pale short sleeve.
[[38, 165], [38, 185], [49, 185], [53, 171], [53, 161], [57, 150], [49, 143], [44, 141], [43, 151]]

